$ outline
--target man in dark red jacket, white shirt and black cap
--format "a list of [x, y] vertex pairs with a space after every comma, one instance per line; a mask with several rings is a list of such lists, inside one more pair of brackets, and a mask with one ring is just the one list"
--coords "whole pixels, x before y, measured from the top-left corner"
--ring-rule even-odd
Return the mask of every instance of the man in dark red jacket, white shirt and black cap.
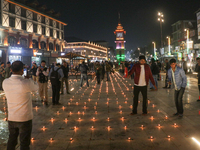
[[134, 77], [134, 98], [133, 98], [133, 111], [131, 115], [137, 114], [137, 106], [138, 106], [138, 96], [139, 93], [142, 93], [143, 96], [143, 115], [147, 114], [147, 86], [149, 83], [149, 79], [157, 90], [155, 85], [151, 69], [148, 64], [146, 64], [145, 56], [141, 55], [139, 57], [138, 64], [135, 64], [132, 69], [129, 71], [129, 76], [135, 73]]

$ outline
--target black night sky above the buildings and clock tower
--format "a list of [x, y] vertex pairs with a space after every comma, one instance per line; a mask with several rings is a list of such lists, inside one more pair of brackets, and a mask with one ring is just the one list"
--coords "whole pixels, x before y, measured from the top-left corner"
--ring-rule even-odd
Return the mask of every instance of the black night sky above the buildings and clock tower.
[[113, 31], [118, 24], [118, 12], [127, 34], [126, 49], [135, 50], [160, 39], [158, 11], [163, 12], [163, 37], [172, 32], [171, 24], [178, 20], [196, 20], [199, 0], [39, 0], [47, 8], [61, 12], [67, 23], [65, 37], [84, 40], [105, 40], [115, 46]]

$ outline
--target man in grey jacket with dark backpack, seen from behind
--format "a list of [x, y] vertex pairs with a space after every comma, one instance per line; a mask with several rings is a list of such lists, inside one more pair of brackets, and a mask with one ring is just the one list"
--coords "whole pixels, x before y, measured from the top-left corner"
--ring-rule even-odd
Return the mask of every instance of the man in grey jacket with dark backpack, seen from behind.
[[49, 76], [52, 87], [52, 104], [60, 105], [60, 86], [62, 78], [64, 77], [60, 63], [57, 63], [56, 66], [50, 70]]

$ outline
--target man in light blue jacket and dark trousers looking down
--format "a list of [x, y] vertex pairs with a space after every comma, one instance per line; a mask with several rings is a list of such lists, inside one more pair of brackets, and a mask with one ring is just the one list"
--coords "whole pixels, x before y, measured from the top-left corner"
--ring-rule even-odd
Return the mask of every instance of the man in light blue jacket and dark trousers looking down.
[[175, 94], [174, 100], [176, 104], [177, 112], [174, 116], [179, 116], [180, 118], [183, 117], [183, 94], [185, 91], [185, 87], [187, 85], [187, 77], [183, 69], [179, 68], [176, 64], [176, 59], [170, 60], [171, 69], [168, 70], [168, 78], [169, 84], [171, 81], [174, 83], [175, 87]]

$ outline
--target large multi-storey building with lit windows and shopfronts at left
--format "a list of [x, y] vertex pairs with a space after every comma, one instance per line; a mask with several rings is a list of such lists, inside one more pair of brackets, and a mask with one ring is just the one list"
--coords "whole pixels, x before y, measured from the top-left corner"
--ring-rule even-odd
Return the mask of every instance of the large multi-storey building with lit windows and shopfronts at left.
[[1, 0], [0, 49], [1, 61], [21, 60], [31, 66], [56, 61], [64, 47], [65, 23], [56, 13], [37, 1]]

